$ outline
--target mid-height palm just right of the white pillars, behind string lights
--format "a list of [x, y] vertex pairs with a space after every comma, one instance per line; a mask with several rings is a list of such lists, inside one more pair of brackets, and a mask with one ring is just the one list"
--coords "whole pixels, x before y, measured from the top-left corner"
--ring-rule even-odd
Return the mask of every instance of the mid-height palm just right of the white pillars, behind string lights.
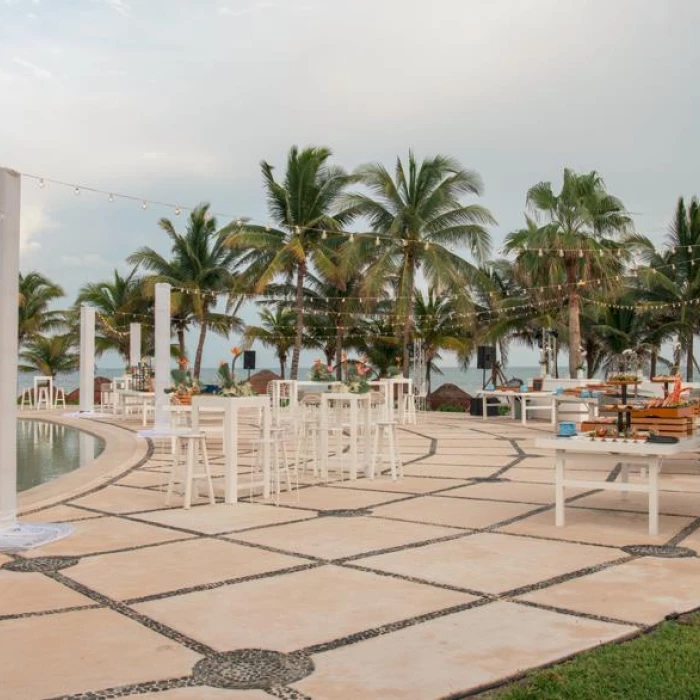
[[216, 219], [209, 216], [209, 204], [200, 204], [187, 221], [185, 233], [177, 233], [169, 219], [158, 222], [172, 242], [170, 259], [149, 247], [139, 248], [130, 255], [129, 263], [142, 266], [154, 274], [147, 282], [167, 282], [179, 288], [181, 296], [176, 304], [178, 339], [182, 357], [184, 333], [190, 319], [199, 324], [199, 340], [194, 360], [194, 376], [198, 379], [202, 368], [202, 352], [207, 331], [227, 337], [241, 326], [235, 315], [213, 311], [217, 297], [229, 294], [227, 311], [233, 307], [234, 267], [238, 253], [226, 245], [229, 233], [217, 231]]

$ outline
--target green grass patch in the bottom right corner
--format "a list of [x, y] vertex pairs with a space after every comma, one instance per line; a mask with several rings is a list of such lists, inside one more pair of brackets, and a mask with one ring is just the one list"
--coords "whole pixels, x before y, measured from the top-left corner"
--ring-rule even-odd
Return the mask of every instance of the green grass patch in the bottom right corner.
[[663, 622], [623, 644], [584, 652], [571, 661], [485, 693], [493, 700], [685, 700], [700, 698], [700, 613]]

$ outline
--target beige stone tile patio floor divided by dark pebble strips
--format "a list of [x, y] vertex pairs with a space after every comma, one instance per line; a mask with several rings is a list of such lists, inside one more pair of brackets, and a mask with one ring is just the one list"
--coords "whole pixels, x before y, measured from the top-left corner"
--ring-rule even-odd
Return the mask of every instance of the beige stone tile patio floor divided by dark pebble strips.
[[403, 480], [309, 473], [279, 506], [244, 489], [190, 511], [165, 505], [154, 446], [24, 516], [71, 537], [0, 554], [0, 697], [460, 697], [700, 606], [700, 459], [668, 462], [659, 537], [643, 498], [595, 490], [556, 528], [548, 430], [422, 414]]

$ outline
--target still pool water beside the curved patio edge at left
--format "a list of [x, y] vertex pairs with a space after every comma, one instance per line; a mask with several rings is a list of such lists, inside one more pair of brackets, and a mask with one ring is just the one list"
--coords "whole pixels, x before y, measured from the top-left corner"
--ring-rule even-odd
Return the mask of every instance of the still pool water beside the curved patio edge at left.
[[26, 491], [92, 462], [104, 440], [65, 425], [17, 421], [17, 490]]

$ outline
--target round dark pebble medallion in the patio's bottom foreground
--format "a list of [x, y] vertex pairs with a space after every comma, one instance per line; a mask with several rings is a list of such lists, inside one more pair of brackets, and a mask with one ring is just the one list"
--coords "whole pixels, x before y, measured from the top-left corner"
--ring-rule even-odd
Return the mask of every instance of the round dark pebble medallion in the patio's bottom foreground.
[[237, 649], [198, 661], [192, 675], [198, 683], [214, 688], [264, 689], [295, 683], [313, 671], [313, 661], [303, 654]]

